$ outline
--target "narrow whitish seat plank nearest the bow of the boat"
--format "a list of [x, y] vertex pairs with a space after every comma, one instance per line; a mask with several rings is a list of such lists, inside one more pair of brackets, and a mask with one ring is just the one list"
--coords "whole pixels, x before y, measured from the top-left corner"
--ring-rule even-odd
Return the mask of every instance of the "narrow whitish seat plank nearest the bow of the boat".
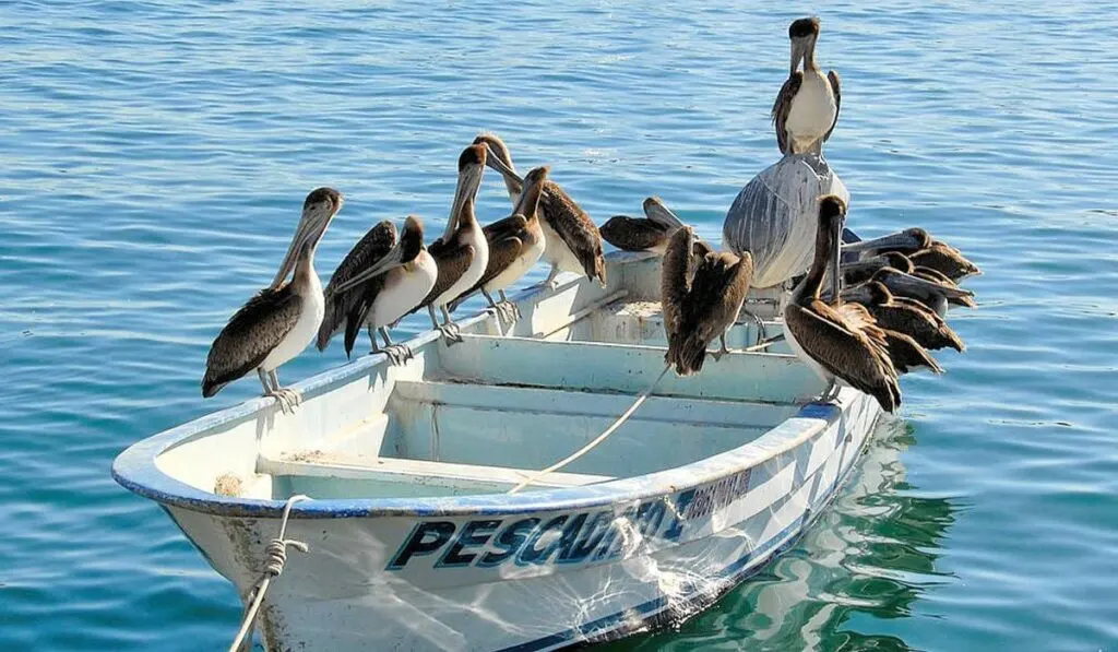
[[[418, 484], [475, 488], [514, 485], [534, 470], [454, 464], [426, 460], [338, 454], [324, 451], [290, 451], [278, 457], [260, 456], [257, 473], [367, 480], [398, 480]], [[582, 486], [614, 480], [589, 473], [550, 473], [534, 482], [537, 486]]]

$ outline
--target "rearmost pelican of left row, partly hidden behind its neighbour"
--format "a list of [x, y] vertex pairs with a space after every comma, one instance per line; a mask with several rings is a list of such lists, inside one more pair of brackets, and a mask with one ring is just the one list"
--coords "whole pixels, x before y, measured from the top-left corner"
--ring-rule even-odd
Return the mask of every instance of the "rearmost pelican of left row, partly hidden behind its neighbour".
[[[474, 144], [483, 144], [492, 155], [489, 166], [504, 177], [509, 197], [515, 206], [523, 181], [512, 164], [512, 154], [496, 134], [486, 133], [474, 139]], [[591, 281], [606, 286], [606, 259], [601, 254], [601, 235], [590, 216], [582, 210], [558, 183], [548, 179], [540, 196], [543, 220], [543, 258], [551, 264], [551, 272], [544, 282], [555, 286], [559, 272], [584, 274]]]

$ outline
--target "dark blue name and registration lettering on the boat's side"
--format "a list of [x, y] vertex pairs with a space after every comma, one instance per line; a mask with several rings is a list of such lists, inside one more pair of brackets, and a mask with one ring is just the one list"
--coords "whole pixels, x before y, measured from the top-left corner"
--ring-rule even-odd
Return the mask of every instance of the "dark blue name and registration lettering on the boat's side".
[[679, 542], [749, 491], [749, 470], [710, 484], [612, 509], [553, 514], [546, 519], [477, 519], [464, 523], [420, 521], [388, 563], [400, 570], [416, 557], [438, 554], [435, 568], [493, 568], [587, 564], [616, 559], [654, 541]]

